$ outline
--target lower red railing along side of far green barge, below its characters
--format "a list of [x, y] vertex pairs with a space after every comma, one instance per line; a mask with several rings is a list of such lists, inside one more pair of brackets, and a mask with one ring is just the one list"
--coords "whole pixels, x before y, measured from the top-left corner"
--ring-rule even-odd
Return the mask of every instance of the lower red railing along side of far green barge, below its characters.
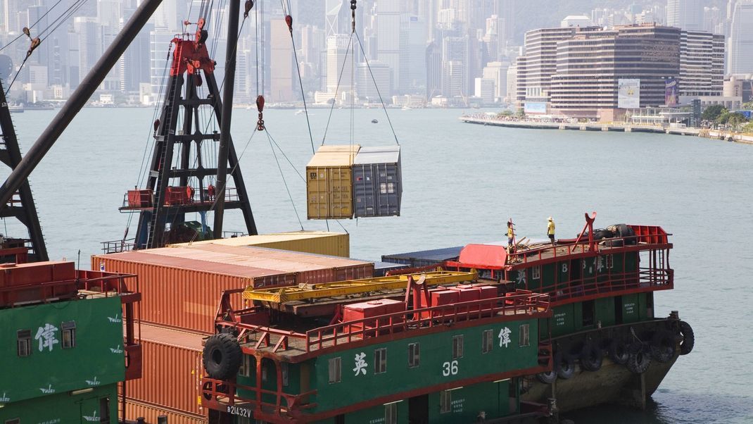
[[549, 293], [551, 301], [559, 303], [571, 299], [587, 300], [604, 294], [669, 290], [674, 287], [673, 277], [673, 270], [669, 268], [642, 267], [639, 270], [590, 276], [534, 289]]

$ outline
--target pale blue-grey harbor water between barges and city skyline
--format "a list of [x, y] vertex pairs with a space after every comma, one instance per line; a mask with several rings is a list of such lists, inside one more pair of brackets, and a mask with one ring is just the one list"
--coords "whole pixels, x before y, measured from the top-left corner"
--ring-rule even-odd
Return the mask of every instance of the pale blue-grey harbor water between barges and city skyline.
[[[76, 260], [81, 252], [81, 266], [87, 267], [100, 242], [123, 237], [130, 215], [117, 207], [138, 184], [142, 161], [148, 163], [153, 112], [84, 109], [32, 174], [51, 259]], [[518, 238], [533, 239], [545, 237], [548, 216], [558, 237], [575, 236], [584, 212], [592, 211], [599, 227], [660, 225], [672, 233], [675, 290], [657, 293], [655, 310], [657, 316], [678, 310], [693, 325], [695, 349], [678, 359], [648, 410], [598, 407], [566, 417], [578, 423], [753, 422], [753, 146], [485, 127], [462, 124], [458, 109], [395, 109], [389, 120], [401, 144], [401, 216], [306, 221], [301, 175], [312, 142], [322, 144], [329, 109], [311, 109], [312, 141], [306, 116], [295, 112], [265, 111], [268, 132], [252, 137], [256, 111], [233, 111], [233, 139], [260, 232], [345, 229], [352, 257], [375, 260], [500, 241], [508, 218]], [[13, 115], [23, 152], [55, 113]], [[356, 109], [352, 115], [347, 108], [334, 110], [325, 144], [395, 144], [383, 110]], [[273, 154], [276, 145], [284, 154]], [[244, 230], [239, 212], [226, 216], [225, 230]], [[8, 222], [2, 231], [12, 234], [14, 226]]]

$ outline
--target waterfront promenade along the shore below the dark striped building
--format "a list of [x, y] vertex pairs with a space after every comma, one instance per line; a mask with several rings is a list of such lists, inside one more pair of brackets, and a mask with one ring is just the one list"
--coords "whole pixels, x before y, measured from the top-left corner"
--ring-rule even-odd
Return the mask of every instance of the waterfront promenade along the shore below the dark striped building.
[[546, 120], [525, 120], [512, 117], [491, 117], [485, 114], [462, 115], [466, 124], [492, 125], [496, 127], [528, 128], [535, 130], [577, 130], [577, 131], [618, 131], [622, 133], [661, 133], [676, 136], [699, 136], [753, 145], [753, 136], [730, 133], [729, 131], [709, 130], [691, 127], [663, 127], [660, 125], [632, 124], [627, 122], [555, 122]]

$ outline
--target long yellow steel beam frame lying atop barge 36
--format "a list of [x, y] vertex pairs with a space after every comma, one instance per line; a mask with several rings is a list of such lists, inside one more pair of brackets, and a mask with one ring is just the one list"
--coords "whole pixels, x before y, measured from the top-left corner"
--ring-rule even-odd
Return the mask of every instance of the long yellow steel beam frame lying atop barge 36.
[[371, 291], [393, 290], [406, 288], [408, 277], [413, 281], [426, 285], [452, 284], [470, 282], [477, 278], [475, 271], [461, 273], [454, 271], [433, 271], [428, 273], [405, 274], [401, 276], [385, 276], [367, 279], [352, 279], [322, 284], [302, 284], [297, 287], [282, 288], [246, 288], [243, 298], [248, 300], [262, 300], [282, 304], [291, 300], [321, 299], [322, 297], [344, 296], [346, 294], [361, 294]]

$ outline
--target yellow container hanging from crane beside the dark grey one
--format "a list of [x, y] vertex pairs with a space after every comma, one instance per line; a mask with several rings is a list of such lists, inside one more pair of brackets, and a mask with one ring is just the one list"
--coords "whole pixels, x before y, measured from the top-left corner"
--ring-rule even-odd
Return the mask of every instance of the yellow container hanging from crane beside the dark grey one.
[[353, 218], [352, 166], [360, 145], [321, 146], [306, 165], [309, 219]]

